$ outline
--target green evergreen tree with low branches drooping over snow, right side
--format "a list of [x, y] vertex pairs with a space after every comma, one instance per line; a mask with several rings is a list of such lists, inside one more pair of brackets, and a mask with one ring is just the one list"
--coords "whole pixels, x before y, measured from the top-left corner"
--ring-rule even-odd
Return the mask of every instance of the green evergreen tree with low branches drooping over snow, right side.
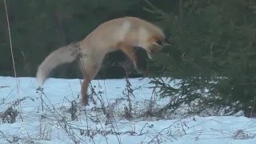
[[[246, 116], [255, 112], [255, 10], [249, 0], [179, 0], [178, 9], [164, 12], [158, 22], [172, 46], [149, 66], [152, 82], [162, 97], [172, 97], [163, 110], [189, 106], [190, 112]], [[152, 68], [154, 66], [154, 68]], [[158, 67], [158, 68], [155, 68]], [[176, 86], [159, 80], [179, 80]], [[193, 110], [192, 110], [193, 107]], [[195, 110], [194, 110], [195, 109]]]

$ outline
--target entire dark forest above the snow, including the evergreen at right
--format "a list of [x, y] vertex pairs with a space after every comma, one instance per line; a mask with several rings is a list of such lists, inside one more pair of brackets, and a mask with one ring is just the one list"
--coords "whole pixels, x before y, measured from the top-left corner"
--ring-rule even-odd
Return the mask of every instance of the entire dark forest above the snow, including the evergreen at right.
[[[34, 77], [52, 50], [85, 38], [102, 22], [134, 16], [162, 27], [172, 46], [148, 62], [146, 74], [162, 97], [177, 95], [166, 110], [199, 102], [214, 114], [256, 112], [255, 0], [6, 0], [17, 76]], [[14, 76], [4, 2], [0, 2], [0, 75]], [[123, 78], [122, 52], [106, 56], [97, 78]], [[59, 66], [51, 77], [80, 78], [77, 65]], [[178, 88], [162, 77], [180, 79]], [[207, 97], [206, 97], [207, 95]], [[196, 107], [194, 106], [194, 107]]]

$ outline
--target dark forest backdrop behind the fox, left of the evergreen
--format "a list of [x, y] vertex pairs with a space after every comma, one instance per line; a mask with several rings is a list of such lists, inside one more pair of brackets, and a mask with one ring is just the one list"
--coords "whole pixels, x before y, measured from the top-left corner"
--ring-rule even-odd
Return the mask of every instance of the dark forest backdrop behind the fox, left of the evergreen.
[[[148, 6], [141, 0], [7, 0], [10, 30], [14, 48], [17, 76], [35, 76], [38, 65], [47, 54], [70, 42], [82, 40], [102, 22], [113, 18], [134, 16], [158, 22], [155, 15], [143, 10]], [[155, 5], [170, 11], [168, 1], [155, 1]], [[166, 4], [170, 6], [166, 6]], [[6, 11], [1, 1], [1, 58], [0, 74], [14, 76], [10, 57], [10, 42]], [[175, 7], [175, 6], [171, 6]], [[97, 78], [123, 78], [125, 69], [118, 63], [129, 59], [121, 51], [108, 54]], [[130, 77], [142, 76], [131, 67]], [[59, 66], [51, 74], [55, 78], [81, 77], [76, 64]]]

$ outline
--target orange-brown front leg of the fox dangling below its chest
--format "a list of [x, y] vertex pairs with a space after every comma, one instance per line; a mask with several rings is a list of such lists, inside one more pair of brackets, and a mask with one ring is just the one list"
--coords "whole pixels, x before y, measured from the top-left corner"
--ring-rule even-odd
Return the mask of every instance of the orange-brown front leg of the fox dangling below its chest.
[[[135, 68], [138, 70], [138, 72], [143, 72], [141, 63], [138, 62], [138, 57], [135, 53], [134, 46], [129, 46], [126, 44], [119, 44], [119, 48], [130, 58], [130, 60], [134, 63]], [[144, 69], [144, 67], [143, 67]]]

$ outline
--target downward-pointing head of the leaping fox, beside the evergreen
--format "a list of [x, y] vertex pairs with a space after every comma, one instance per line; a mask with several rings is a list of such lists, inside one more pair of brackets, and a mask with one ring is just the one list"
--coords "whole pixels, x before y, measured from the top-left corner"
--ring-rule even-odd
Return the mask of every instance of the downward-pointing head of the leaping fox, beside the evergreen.
[[161, 51], [164, 46], [170, 46], [170, 41], [165, 36], [152, 36], [146, 42], [146, 46], [143, 49], [146, 50], [148, 57], [151, 59], [151, 55]]

